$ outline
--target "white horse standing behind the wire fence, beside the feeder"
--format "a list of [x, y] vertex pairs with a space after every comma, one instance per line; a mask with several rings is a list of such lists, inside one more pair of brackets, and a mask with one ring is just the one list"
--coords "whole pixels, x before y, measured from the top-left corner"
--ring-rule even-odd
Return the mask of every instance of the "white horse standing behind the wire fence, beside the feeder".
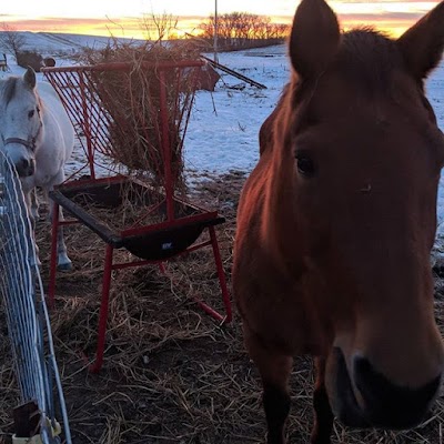
[[[73, 145], [74, 129], [49, 83], [37, 84], [31, 68], [23, 77], [0, 80], [0, 149], [20, 176], [33, 226], [38, 218], [36, 186], [43, 190], [48, 200], [48, 192], [64, 181], [63, 168]], [[58, 236], [58, 266], [72, 268], [62, 230]]]

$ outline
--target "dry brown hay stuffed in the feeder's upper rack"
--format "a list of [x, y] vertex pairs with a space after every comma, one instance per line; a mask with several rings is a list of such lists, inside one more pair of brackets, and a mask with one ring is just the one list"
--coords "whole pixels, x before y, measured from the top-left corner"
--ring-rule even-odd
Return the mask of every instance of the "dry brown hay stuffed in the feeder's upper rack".
[[[117, 43], [88, 56], [94, 67], [91, 81], [109, 120], [105, 154], [131, 172], [143, 173], [157, 188], [165, 181], [174, 190], [184, 185], [183, 138], [198, 72], [176, 64], [191, 57], [195, 60], [195, 53], [182, 47]], [[173, 67], [165, 68], [171, 62]]]

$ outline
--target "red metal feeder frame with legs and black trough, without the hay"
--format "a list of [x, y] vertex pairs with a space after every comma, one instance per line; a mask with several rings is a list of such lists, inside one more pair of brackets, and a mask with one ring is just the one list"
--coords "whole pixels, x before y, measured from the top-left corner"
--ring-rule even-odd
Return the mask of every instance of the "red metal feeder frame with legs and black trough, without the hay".
[[[165, 78], [167, 75], [170, 75], [171, 78], [172, 72], [179, 72], [179, 75], [182, 75], [183, 72], [188, 72], [188, 75], [190, 75], [190, 72], [194, 70], [196, 73], [203, 62], [170, 61], [158, 62], [155, 65], [151, 62], [143, 62], [143, 64], [144, 69], [149, 70], [155, 68], [159, 73], [160, 109], [157, 118], [160, 118], [160, 127], [162, 131], [160, 143], [163, 155], [164, 186], [162, 202], [152, 205], [149, 211], [161, 211], [162, 215], [164, 215], [164, 221], [143, 226], [130, 226], [121, 231], [110, 230], [100, 220], [89, 213], [81, 204], [79, 204], [79, 195], [87, 194], [91, 200], [99, 204], [113, 206], [118, 199], [117, 192], [128, 182], [131, 182], [135, 186], [145, 189], [150, 188], [138, 180], [122, 175], [97, 178], [94, 169], [94, 155], [97, 150], [103, 150], [107, 144], [111, 143], [107, 128], [112, 122], [112, 118], [103, 110], [100, 97], [94, 89], [93, 74], [104, 71], [129, 72], [132, 64], [122, 62], [103, 63], [93, 67], [42, 69], [44, 77], [58, 92], [78, 135], [82, 133], [85, 137], [85, 153], [88, 157], [90, 173], [88, 180], [68, 180], [57, 186], [54, 191], [50, 192], [50, 198], [53, 201], [50, 279], [48, 291], [50, 305], [54, 304], [57, 235], [59, 228], [73, 223], [82, 223], [105, 242], [101, 305], [98, 325], [98, 345], [95, 360], [90, 365], [91, 372], [99, 372], [103, 364], [111, 273], [113, 270], [158, 264], [160, 269], [164, 271], [164, 261], [211, 245], [222, 293], [224, 313], [218, 312], [199, 297], [195, 297], [194, 300], [204, 312], [210, 314], [221, 324], [230, 323], [232, 320], [231, 301], [214, 229], [215, 225], [223, 223], [225, 220], [223, 216], [218, 214], [218, 211], [208, 211], [175, 196], [174, 181], [171, 171], [171, 147], [169, 141], [169, 117], [167, 108], [168, 85]], [[178, 94], [180, 92], [178, 92]], [[188, 118], [189, 114], [186, 117], [186, 122]], [[185, 130], [186, 127], [183, 130], [181, 143], [183, 143]], [[152, 190], [152, 193], [158, 193], [158, 191]], [[150, 202], [143, 202], [141, 204], [150, 204]], [[74, 219], [67, 221], [59, 220], [59, 206], [69, 212]], [[196, 243], [204, 230], [208, 230], [210, 240]], [[114, 263], [113, 251], [114, 249], [121, 248], [125, 248], [138, 259], [131, 262]]]

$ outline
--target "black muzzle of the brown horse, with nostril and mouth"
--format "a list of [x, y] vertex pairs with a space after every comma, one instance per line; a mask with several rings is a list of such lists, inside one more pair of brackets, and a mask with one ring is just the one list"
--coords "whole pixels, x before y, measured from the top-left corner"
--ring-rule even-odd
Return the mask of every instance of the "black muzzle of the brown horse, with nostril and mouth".
[[[379, 373], [363, 356], [354, 356], [352, 377], [342, 351], [334, 347], [326, 387], [334, 414], [352, 427], [411, 428], [426, 416], [442, 375], [421, 387], [400, 386]], [[406, 364], [408, 365], [408, 364]]]

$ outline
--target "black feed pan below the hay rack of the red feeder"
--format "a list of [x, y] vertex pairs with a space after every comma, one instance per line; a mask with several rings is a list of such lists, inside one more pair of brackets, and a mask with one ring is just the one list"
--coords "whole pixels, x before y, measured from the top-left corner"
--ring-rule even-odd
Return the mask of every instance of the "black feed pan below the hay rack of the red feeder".
[[[88, 205], [118, 209], [122, 204], [122, 194], [132, 204], [150, 206], [161, 202], [162, 195], [148, 185], [125, 178], [112, 178], [110, 181], [78, 181], [79, 183], [58, 186], [50, 192], [50, 198], [71, 213], [75, 219], [89, 226], [104, 242], [120, 249], [125, 248], [143, 260], [164, 260], [183, 252], [192, 245], [206, 226], [223, 223], [225, 220], [216, 212], [208, 212], [179, 199], [174, 199], [173, 223], [162, 222], [155, 226], [144, 225], [142, 232], [122, 234], [110, 229], [93, 214]], [[83, 182], [83, 183], [82, 183]], [[129, 184], [131, 186], [129, 186]], [[87, 209], [85, 209], [87, 206]], [[165, 215], [167, 205], [155, 208], [157, 214]]]

